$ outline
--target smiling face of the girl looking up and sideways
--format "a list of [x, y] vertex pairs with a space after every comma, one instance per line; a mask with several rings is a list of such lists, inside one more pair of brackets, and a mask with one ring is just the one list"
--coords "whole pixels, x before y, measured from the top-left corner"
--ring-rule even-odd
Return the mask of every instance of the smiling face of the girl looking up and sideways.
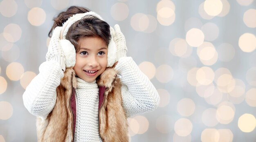
[[79, 78], [92, 82], [106, 69], [107, 44], [99, 37], [81, 38], [78, 43], [80, 49], [76, 53], [76, 64], [73, 69]]

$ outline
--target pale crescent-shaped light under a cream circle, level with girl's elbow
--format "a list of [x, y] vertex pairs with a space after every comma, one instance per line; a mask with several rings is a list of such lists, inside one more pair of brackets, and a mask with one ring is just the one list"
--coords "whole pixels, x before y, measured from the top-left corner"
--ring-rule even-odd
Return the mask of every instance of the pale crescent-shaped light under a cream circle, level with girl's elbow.
[[213, 83], [209, 85], [197, 84], [195, 88], [196, 93], [198, 93], [198, 95], [203, 98], [210, 97], [214, 93], [214, 90], [215, 90], [215, 86]]

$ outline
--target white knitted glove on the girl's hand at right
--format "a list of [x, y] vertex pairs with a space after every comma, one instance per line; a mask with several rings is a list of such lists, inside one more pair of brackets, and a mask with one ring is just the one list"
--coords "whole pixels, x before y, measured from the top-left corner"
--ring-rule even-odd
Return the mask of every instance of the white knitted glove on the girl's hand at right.
[[117, 61], [121, 57], [126, 57], [127, 53], [127, 47], [126, 47], [126, 41], [124, 38], [124, 34], [121, 32], [120, 27], [118, 24], [115, 25], [115, 30], [110, 27], [113, 39], [115, 41], [115, 44], [117, 46]]

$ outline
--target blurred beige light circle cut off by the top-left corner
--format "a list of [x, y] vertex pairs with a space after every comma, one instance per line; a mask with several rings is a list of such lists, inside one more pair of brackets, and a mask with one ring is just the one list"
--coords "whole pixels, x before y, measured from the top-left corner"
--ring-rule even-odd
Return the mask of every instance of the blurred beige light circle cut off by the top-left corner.
[[0, 13], [4, 17], [12, 17], [17, 13], [18, 5], [14, 0], [2, 0], [0, 2]]

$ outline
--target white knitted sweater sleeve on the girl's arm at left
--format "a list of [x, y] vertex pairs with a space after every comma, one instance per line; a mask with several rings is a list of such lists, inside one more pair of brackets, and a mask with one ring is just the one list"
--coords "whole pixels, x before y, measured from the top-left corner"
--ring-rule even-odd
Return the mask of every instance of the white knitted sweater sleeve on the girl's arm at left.
[[42, 119], [52, 111], [56, 103], [56, 88], [64, 73], [58, 62], [46, 61], [39, 67], [39, 74], [30, 82], [23, 93], [27, 110]]

